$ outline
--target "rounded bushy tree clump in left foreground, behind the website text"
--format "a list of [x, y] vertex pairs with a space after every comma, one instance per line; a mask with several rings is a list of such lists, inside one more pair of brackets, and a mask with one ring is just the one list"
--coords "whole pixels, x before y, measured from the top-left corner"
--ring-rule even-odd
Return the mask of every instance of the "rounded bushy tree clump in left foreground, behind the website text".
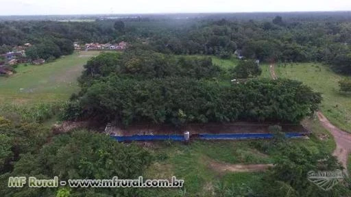
[[[2, 135], [0, 139], [4, 140]], [[3, 148], [5, 145], [1, 145]], [[35, 146], [34, 146], [35, 147]], [[5, 153], [5, 152], [4, 152]], [[1, 155], [2, 156], [2, 155]], [[146, 150], [134, 144], [120, 144], [109, 136], [91, 131], [75, 131], [51, 139], [37, 153], [21, 155], [12, 172], [0, 176], [8, 185], [9, 176], [35, 176], [38, 179], [137, 179], [152, 161]], [[1, 160], [0, 160], [1, 161]], [[66, 190], [69, 196], [138, 196], [133, 188], [42, 188], [0, 187], [5, 196], [56, 196]]]

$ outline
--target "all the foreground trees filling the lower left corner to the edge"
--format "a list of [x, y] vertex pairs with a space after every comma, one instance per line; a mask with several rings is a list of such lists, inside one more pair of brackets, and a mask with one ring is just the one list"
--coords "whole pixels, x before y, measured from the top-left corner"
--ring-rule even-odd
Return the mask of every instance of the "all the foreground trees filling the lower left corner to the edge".
[[[36, 176], [52, 179], [137, 179], [149, 166], [152, 155], [135, 144], [116, 143], [110, 137], [90, 131], [58, 135], [46, 144], [51, 133], [38, 124], [16, 127], [0, 117], [0, 182], [8, 185], [9, 176]], [[52, 137], [52, 136], [51, 136]], [[45, 145], [44, 145], [45, 144]], [[101, 168], [101, 166], [104, 166]], [[135, 196], [138, 189], [67, 189], [71, 196], [110, 195]], [[56, 196], [56, 189], [0, 187], [7, 196]]]

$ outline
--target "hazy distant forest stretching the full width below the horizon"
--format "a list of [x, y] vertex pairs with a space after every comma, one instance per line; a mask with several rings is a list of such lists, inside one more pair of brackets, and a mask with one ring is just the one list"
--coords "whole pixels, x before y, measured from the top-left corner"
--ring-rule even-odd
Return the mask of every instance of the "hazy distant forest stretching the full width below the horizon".
[[67, 40], [82, 43], [124, 40], [132, 44], [149, 44], [160, 53], [177, 55], [206, 54], [229, 58], [237, 51], [248, 59], [266, 62], [326, 62], [336, 72], [350, 74], [351, 24], [343, 18], [321, 20], [302, 15], [286, 20], [277, 16], [271, 21], [267, 18], [260, 21], [213, 21], [208, 18], [200, 21], [193, 18], [177, 23], [170, 20], [2, 22], [0, 51], [30, 42], [43, 45], [34, 47], [29, 54], [46, 58], [58, 56], [58, 47], [62, 55], [71, 53], [71, 42]]

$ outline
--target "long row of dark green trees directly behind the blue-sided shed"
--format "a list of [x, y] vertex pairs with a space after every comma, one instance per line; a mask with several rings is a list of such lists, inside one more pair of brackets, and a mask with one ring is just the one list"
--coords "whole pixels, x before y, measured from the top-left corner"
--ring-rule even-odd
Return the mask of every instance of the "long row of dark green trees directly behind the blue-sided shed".
[[[281, 120], [298, 122], [317, 109], [321, 96], [297, 81], [269, 79], [223, 86], [214, 81], [167, 77], [108, 77], [69, 106], [67, 118], [155, 123]], [[81, 117], [76, 117], [78, 109]]]

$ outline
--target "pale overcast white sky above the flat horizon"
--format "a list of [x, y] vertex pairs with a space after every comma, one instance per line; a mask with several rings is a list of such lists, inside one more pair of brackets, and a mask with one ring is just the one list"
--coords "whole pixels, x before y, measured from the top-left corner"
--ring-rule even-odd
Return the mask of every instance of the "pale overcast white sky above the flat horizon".
[[0, 15], [351, 11], [351, 0], [0, 0]]

